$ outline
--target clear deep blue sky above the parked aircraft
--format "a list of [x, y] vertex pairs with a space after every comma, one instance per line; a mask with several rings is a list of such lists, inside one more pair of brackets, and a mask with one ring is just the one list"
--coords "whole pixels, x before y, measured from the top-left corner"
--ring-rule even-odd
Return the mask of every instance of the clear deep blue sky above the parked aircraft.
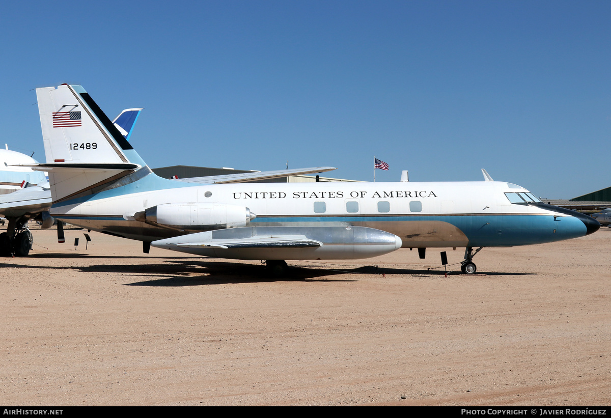
[[35, 87], [81, 84], [151, 167], [611, 186], [609, 1], [4, 2], [2, 144], [44, 160]]

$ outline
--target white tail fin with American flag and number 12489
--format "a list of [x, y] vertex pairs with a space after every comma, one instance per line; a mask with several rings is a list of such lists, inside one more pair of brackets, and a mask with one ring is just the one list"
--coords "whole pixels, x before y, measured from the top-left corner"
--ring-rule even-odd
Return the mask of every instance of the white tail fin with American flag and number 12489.
[[35, 169], [48, 171], [54, 203], [156, 177], [81, 86], [42, 87], [36, 96], [46, 164]]

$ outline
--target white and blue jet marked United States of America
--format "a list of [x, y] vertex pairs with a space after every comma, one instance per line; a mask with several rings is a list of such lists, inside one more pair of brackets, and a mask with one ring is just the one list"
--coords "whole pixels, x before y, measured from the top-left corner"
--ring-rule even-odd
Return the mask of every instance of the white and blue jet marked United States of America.
[[[486, 246], [582, 237], [589, 216], [541, 204], [506, 182], [233, 183], [153, 174], [81, 86], [37, 89], [53, 208], [71, 224], [190, 254], [267, 260], [360, 259], [398, 248]], [[78, 127], [54, 126], [76, 112]], [[72, 115], [71, 115], [72, 116]], [[473, 251], [473, 248], [478, 249]]]

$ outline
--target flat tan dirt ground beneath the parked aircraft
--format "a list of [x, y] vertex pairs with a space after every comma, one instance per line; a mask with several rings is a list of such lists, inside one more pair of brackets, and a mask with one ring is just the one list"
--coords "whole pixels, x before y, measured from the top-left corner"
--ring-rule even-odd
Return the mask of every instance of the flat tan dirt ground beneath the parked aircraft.
[[275, 279], [32, 232], [0, 264], [4, 405], [611, 404], [609, 228], [483, 249], [475, 276], [401, 249]]

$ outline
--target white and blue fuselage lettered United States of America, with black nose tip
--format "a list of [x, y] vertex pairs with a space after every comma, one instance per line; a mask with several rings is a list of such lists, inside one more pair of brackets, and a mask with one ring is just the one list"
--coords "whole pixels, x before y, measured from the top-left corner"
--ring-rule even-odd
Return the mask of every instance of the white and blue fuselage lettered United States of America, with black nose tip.
[[71, 224], [141, 241], [200, 231], [133, 219], [135, 213], [167, 202], [245, 207], [256, 215], [250, 226], [370, 227], [397, 235], [403, 248], [549, 243], [598, 229], [590, 217], [541, 204], [528, 199], [532, 195], [527, 193], [505, 182], [192, 186], [148, 174], [125, 186], [60, 202], [51, 214]]

